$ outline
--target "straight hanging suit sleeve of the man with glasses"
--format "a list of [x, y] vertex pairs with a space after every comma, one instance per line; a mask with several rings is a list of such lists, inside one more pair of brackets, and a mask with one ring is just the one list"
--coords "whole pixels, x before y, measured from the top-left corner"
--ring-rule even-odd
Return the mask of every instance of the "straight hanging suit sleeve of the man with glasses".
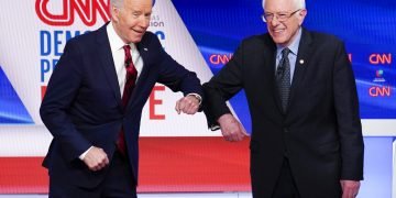
[[352, 66], [342, 43], [334, 62], [333, 92], [341, 142], [341, 179], [363, 179], [364, 144]]

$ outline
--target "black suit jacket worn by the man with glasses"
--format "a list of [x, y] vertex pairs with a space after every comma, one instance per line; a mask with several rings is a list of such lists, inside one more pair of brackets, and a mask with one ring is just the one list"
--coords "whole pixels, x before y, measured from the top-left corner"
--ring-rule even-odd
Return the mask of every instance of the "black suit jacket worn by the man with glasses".
[[340, 179], [363, 179], [359, 101], [343, 43], [302, 29], [285, 114], [275, 82], [275, 53], [270, 34], [242, 42], [204, 85], [209, 125], [230, 112], [224, 101], [244, 89], [253, 128], [253, 196], [271, 197], [287, 156], [301, 197], [337, 197]]

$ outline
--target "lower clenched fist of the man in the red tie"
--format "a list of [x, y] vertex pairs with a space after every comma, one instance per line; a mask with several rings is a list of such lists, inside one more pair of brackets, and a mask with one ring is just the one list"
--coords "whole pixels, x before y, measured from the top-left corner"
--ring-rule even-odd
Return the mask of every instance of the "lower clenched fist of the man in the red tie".
[[88, 168], [94, 172], [100, 170], [109, 164], [109, 158], [105, 151], [95, 146], [88, 151], [82, 161]]

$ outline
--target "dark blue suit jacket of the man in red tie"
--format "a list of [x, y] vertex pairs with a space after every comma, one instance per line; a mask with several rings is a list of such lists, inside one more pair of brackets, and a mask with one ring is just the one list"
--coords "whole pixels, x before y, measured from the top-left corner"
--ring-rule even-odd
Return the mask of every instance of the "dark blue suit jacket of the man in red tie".
[[106, 25], [67, 42], [40, 109], [54, 136], [43, 165], [53, 179], [69, 179], [82, 187], [98, 185], [107, 168], [91, 172], [78, 156], [95, 145], [111, 161], [121, 128], [138, 182], [141, 113], [155, 82], [202, 96], [196, 74], [176, 63], [157, 36], [147, 32], [136, 44], [144, 66], [124, 110]]

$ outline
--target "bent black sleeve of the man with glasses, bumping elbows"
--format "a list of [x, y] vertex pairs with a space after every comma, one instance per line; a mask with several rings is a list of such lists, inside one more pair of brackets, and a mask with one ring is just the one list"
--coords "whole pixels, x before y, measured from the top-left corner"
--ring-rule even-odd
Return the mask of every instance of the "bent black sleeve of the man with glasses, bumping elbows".
[[208, 127], [217, 129], [217, 120], [226, 113], [231, 113], [226, 101], [232, 98], [243, 88], [243, 44], [233, 54], [229, 63], [204, 84], [205, 105], [204, 112], [208, 120]]

